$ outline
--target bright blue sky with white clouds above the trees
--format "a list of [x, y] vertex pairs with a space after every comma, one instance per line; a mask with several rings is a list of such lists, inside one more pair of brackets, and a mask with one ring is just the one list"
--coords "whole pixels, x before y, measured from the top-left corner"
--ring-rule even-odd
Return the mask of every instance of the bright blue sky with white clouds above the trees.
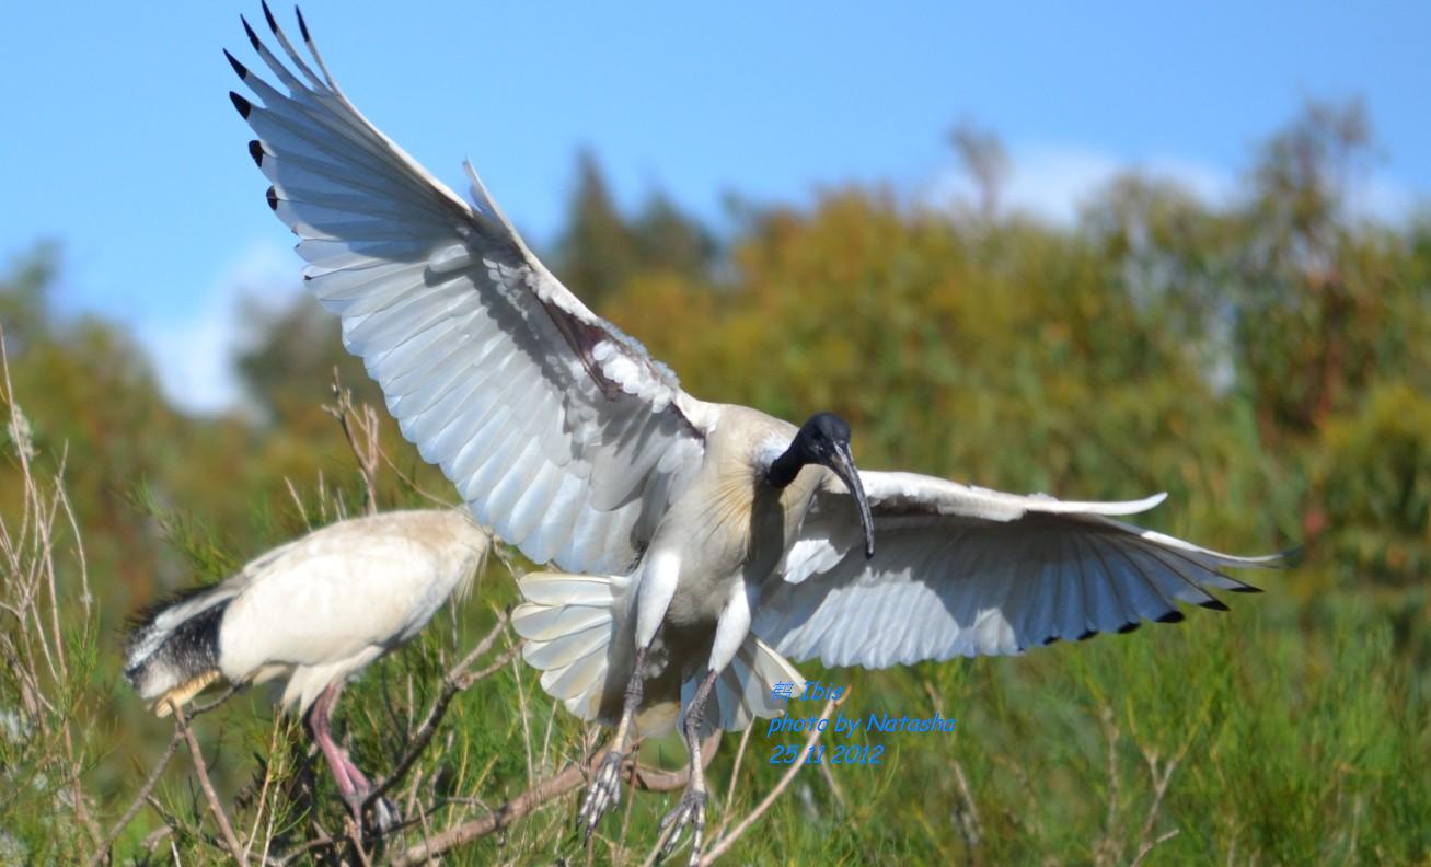
[[[1431, 4], [1185, 6], [303, 9], [363, 113], [456, 189], [469, 156], [538, 249], [582, 146], [624, 202], [664, 189], [718, 219], [730, 190], [809, 202], [883, 180], [946, 195], [944, 134], [972, 119], [1015, 157], [1013, 203], [1063, 219], [1128, 166], [1236, 195], [1252, 149], [1308, 97], [1365, 99], [1384, 159], [1364, 207], [1395, 217], [1428, 199]], [[59, 240], [60, 309], [127, 323], [200, 409], [236, 398], [238, 300], [298, 285], [226, 99], [239, 84], [219, 49], [253, 59], [239, 13], [262, 21], [256, 0], [26, 3], [0, 33], [0, 258]]]

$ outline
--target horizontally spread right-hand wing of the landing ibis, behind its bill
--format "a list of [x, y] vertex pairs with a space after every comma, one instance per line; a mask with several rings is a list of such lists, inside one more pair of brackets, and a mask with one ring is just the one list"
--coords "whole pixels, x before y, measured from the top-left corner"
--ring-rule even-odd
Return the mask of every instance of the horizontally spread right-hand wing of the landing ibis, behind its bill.
[[1133, 502], [1017, 496], [904, 472], [861, 472], [874, 515], [866, 559], [854, 505], [824, 489], [764, 589], [751, 631], [796, 661], [884, 668], [1016, 654], [1056, 640], [1224, 608], [1206, 588], [1278, 557], [1231, 557], [1110, 518]]

